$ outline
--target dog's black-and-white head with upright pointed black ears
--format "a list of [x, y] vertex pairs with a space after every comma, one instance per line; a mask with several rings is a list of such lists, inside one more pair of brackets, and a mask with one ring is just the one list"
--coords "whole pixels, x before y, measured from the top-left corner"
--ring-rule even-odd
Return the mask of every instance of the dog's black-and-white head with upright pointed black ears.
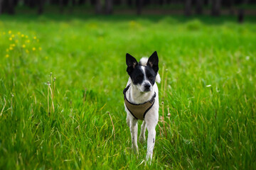
[[[147, 60], [147, 59], [146, 59]], [[141, 92], [151, 91], [156, 81], [156, 75], [159, 70], [159, 58], [157, 52], [154, 52], [147, 62], [145, 58], [138, 63], [137, 60], [127, 53], [127, 73], [132, 79], [132, 84]]]

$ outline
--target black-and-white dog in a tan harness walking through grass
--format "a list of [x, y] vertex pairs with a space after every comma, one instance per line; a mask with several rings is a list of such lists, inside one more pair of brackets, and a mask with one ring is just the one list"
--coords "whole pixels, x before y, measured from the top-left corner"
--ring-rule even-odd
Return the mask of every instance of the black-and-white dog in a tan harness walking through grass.
[[151, 164], [154, 144], [156, 141], [156, 125], [159, 120], [159, 92], [157, 83], [161, 79], [159, 71], [159, 57], [154, 52], [149, 58], [137, 60], [127, 53], [127, 73], [129, 79], [123, 91], [124, 108], [127, 112], [127, 125], [132, 136], [132, 150], [139, 154], [137, 145], [138, 120], [143, 120], [139, 142], [146, 140], [148, 130], [146, 162]]

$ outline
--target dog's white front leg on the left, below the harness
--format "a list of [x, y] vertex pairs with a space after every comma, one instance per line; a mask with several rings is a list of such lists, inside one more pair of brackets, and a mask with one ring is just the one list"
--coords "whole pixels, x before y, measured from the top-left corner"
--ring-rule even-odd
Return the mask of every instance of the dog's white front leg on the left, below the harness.
[[137, 133], [138, 133], [138, 120], [135, 118], [132, 118], [131, 124], [130, 124], [130, 131], [132, 136], [132, 150], [135, 154], [139, 154], [139, 149], [137, 145]]

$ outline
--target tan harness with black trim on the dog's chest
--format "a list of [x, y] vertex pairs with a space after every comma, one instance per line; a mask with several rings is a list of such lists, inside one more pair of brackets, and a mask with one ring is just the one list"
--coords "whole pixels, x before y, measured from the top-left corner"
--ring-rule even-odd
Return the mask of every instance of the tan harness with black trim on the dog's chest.
[[135, 104], [127, 100], [126, 92], [129, 89], [131, 84], [129, 84], [123, 91], [124, 94], [124, 104], [127, 107], [128, 111], [134, 116], [134, 118], [139, 120], [144, 120], [146, 113], [150, 110], [150, 108], [154, 105], [154, 101], [156, 98], [156, 92], [154, 96], [145, 103]]

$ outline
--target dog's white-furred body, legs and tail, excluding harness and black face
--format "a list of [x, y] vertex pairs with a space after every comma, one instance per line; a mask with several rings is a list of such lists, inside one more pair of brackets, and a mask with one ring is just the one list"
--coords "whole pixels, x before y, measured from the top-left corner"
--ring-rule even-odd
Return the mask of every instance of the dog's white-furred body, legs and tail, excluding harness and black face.
[[[140, 60], [140, 63], [142, 63], [141, 69], [144, 69], [146, 66], [147, 58], [142, 58]], [[145, 79], [146, 81], [146, 79]], [[160, 82], [160, 76], [159, 74], [156, 75], [156, 82]], [[129, 89], [126, 92], [127, 100], [135, 103], [140, 104], [144, 103], [146, 101], [149, 101], [153, 96], [154, 93], [156, 93], [155, 102], [154, 105], [150, 108], [150, 110], [146, 113], [144, 121], [141, 126], [141, 132], [139, 135], [139, 142], [144, 142], [146, 140], [145, 132], [146, 128], [148, 130], [148, 139], [147, 139], [147, 152], [146, 152], [146, 160], [151, 162], [152, 156], [153, 156], [153, 149], [154, 144], [156, 141], [156, 125], [159, 120], [159, 91], [157, 84], [154, 83], [154, 85], [151, 87], [151, 91], [142, 93], [142, 90], [140, 89], [140, 86], [134, 85], [132, 83], [132, 79], [129, 77], [129, 80], [127, 82], [127, 86], [131, 84]], [[129, 126], [129, 129], [131, 131], [132, 136], [132, 149], [135, 153], [139, 153], [138, 145], [137, 145], [137, 133], [138, 133], [138, 120], [134, 118], [134, 116], [129, 112], [127, 109], [127, 106], [124, 104], [125, 111], [127, 112], [127, 125]]]

